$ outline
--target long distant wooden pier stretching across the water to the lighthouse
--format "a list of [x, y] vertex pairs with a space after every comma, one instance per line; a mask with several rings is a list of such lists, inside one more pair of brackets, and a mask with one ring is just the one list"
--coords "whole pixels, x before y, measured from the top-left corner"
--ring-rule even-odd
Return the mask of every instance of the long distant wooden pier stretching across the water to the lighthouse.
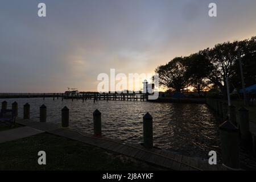
[[106, 101], [147, 101], [147, 93], [98, 93], [98, 92], [81, 92], [72, 96], [65, 96], [63, 93], [0, 93], [0, 98], [32, 98], [32, 97], [52, 97], [53, 100], [57, 98], [65, 99], [82, 99], [84, 100], [106, 100]]

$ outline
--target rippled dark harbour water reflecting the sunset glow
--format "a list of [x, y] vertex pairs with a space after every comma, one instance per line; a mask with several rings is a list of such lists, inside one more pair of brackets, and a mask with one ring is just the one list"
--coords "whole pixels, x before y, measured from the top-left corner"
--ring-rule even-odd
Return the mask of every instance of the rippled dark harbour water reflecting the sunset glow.
[[[2, 102], [4, 99], [0, 99]], [[156, 147], [181, 152], [184, 155], [208, 158], [210, 150], [220, 154], [218, 123], [206, 105], [157, 104], [137, 101], [64, 100], [52, 98], [6, 99], [8, 107], [18, 102], [19, 116], [23, 105], [31, 105], [31, 118], [39, 119], [39, 107], [47, 106], [47, 122], [60, 123], [61, 109], [69, 108], [70, 127], [93, 133], [93, 111], [102, 113], [102, 134], [127, 143], [142, 143], [142, 117], [149, 112], [153, 117], [154, 144]]]

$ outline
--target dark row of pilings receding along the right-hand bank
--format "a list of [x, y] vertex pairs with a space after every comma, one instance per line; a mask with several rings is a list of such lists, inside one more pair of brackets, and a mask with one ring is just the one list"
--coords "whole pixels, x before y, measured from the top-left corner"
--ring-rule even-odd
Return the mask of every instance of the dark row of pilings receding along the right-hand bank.
[[229, 106], [228, 102], [214, 98], [207, 98], [206, 102], [210, 109], [224, 121], [219, 126], [224, 166], [234, 170], [240, 169], [240, 141], [246, 143], [252, 141], [249, 110], [245, 107], [237, 110], [236, 106]]

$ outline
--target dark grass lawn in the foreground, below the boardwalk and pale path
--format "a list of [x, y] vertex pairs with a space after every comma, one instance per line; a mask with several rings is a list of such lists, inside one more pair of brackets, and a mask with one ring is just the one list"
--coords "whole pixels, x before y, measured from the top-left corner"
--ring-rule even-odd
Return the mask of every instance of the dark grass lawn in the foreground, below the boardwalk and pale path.
[[[0, 170], [159, 170], [162, 168], [47, 133], [0, 143]], [[46, 165], [38, 152], [46, 152]]]

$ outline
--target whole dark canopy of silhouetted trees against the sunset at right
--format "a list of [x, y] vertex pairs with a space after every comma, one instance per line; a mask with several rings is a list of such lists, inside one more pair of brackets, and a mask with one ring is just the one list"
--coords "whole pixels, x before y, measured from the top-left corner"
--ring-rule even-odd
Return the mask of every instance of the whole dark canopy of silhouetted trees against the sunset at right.
[[175, 57], [155, 72], [159, 75], [159, 85], [167, 89], [180, 91], [191, 86], [200, 93], [212, 85], [217, 86], [226, 99], [226, 77], [230, 78], [234, 88], [242, 87], [240, 55], [245, 84], [253, 85], [256, 83], [256, 36], [220, 43], [187, 57]]

